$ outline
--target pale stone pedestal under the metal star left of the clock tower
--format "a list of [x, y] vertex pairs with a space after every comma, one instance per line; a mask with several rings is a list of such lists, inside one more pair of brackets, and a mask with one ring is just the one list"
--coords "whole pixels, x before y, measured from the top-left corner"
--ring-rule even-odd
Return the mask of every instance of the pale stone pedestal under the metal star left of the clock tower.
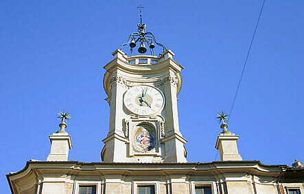
[[47, 157], [47, 161], [67, 161], [69, 149], [72, 148], [71, 136], [65, 132], [64, 128], [67, 124], [60, 123], [60, 130], [49, 136], [51, 141], [51, 153]]

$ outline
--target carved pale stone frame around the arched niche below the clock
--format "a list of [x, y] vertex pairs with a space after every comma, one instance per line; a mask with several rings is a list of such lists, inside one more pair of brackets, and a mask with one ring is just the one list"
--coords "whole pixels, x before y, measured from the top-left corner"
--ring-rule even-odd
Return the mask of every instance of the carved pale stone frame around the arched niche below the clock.
[[[125, 119], [125, 128], [124, 134], [126, 138], [129, 138], [129, 150], [128, 156], [158, 156], [161, 157], [161, 138], [165, 136], [165, 132], [163, 129], [164, 118], [161, 116], [151, 116], [151, 117], [136, 117], [135, 115], [130, 115]], [[148, 152], [137, 152], [133, 149], [132, 144], [134, 143], [133, 138], [135, 138], [135, 130], [137, 125], [141, 123], [146, 123], [148, 125], [152, 125], [156, 130], [156, 136], [154, 137], [156, 145], [154, 146], [155, 151]]]

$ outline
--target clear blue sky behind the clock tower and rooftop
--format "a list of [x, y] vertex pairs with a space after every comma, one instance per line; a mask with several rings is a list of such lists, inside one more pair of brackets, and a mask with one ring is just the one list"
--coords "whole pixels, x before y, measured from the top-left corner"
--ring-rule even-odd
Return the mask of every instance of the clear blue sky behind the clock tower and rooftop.
[[[56, 112], [72, 114], [69, 160], [99, 162], [108, 134], [102, 86], [111, 53], [143, 23], [185, 67], [178, 98], [189, 162], [211, 162], [263, 1], [1, 1], [0, 187], [46, 160]], [[303, 1], [266, 1], [229, 130], [243, 160], [291, 165], [303, 154]], [[220, 160], [218, 156], [216, 160]]]

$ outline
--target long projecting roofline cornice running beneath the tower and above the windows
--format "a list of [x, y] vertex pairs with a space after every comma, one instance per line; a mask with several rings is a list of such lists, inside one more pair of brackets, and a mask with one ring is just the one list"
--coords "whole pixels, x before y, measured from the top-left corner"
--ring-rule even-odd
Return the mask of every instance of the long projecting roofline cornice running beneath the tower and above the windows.
[[[6, 175], [12, 193], [16, 193], [16, 186], [19, 181], [33, 180], [37, 176], [34, 171], [39, 171], [45, 176], [58, 175], [87, 175], [90, 171], [91, 177], [106, 175], [147, 175], [152, 173], [155, 176], [178, 176], [189, 175], [191, 177], [213, 176], [229, 178], [242, 177], [244, 175], [255, 175], [278, 180], [279, 175], [287, 168], [287, 165], [264, 165], [258, 160], [243, 161], [214, 161], [214, 162], [78, 162], [78, 161], [28, 161], [25, 167], [16, 173]], [[302, 174], [304, 172], [302, 171]], [[30, 180], [28, 180], [30, 179]]]

